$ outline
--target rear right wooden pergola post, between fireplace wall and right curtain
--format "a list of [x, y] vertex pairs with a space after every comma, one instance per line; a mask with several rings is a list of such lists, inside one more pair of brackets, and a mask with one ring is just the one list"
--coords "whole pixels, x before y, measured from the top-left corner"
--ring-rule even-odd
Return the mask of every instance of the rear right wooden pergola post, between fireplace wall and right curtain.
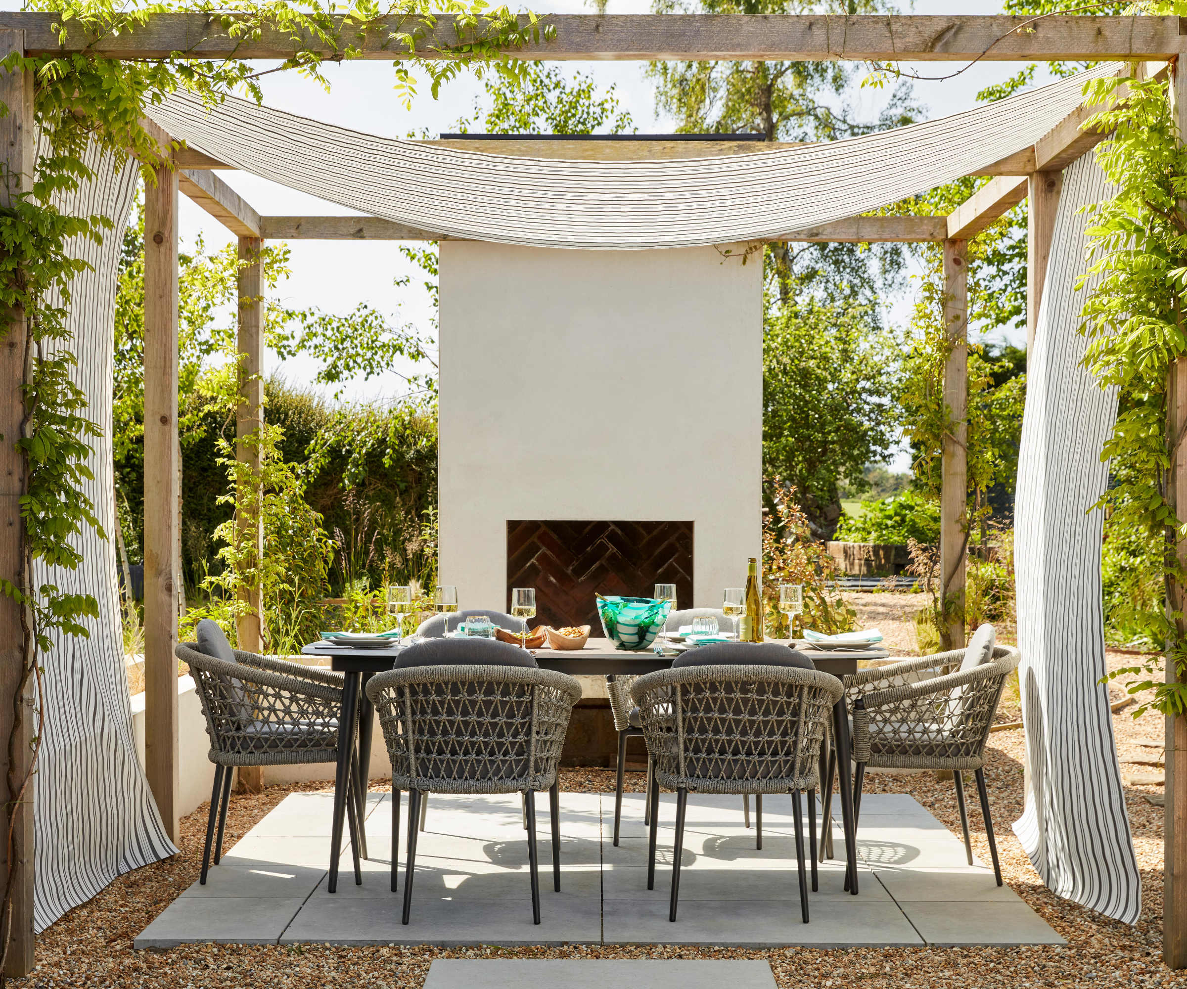
[[967, 393], [969, 393], [969, 242], [944, 241], [944, 325], [952, 342], [944, 367], [946, 406], [940, 488], [940, 587], [944, 614], [940, 629], [945, 649], [964, 641], [965, 551], [969, 545], [967, 502]]

